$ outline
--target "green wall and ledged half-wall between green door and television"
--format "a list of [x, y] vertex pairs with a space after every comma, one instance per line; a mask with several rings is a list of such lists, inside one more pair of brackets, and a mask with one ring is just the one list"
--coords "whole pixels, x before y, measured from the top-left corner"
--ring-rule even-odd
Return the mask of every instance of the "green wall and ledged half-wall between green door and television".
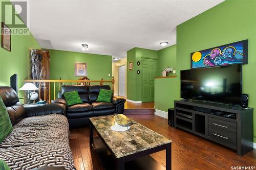
[[[168, 46], [158, 51], [157, 60], [158, 76], [162, 76], [162, 68], [176, 68], [176, 45]], [[169, 75], [176, 75], [170, 73]], [[177, 99], [174, 90], [177, 86], [177, 78], [155, 79], [155, 109], [167, 112], [168, 108], [174, 107], [174, 100]]]

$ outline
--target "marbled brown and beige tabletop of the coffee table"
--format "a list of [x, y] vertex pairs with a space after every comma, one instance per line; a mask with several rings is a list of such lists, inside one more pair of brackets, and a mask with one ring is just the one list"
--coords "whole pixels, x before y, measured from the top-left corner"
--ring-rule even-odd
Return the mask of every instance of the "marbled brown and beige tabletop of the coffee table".
[[[123, 114], [119, 115], [127, 119], [127, 121], [135, 122]], [[140, 125], [139, 123], [132, 125], [127, 131], [112, 131], [110, 128], [115, 124], [114, 115], [91, 117], [90, 120], [100, 136], [104, 139], [105, 143], [113, 151], [116, 158], [121, 158], [172, 142], [172, 140]]]

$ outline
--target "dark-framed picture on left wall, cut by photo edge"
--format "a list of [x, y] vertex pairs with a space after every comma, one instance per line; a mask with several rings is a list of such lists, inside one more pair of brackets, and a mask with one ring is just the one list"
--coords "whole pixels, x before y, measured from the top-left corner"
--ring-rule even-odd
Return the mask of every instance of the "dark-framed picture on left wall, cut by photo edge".
[[11, 30], [1, 22], [1, 47], [11, 52]]

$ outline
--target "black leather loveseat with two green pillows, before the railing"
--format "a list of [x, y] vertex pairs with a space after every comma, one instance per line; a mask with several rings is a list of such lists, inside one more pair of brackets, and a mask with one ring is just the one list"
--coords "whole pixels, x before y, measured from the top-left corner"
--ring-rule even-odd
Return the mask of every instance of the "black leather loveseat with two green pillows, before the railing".
[[[106, 114], [122, 114], [124, 111], [125, 99], [113, 96], [111, 103], [96, 102], [100, 89], [110, 90], [109, 85], [64, 85], [58, 92], [58, 99], [52, 103], [63, 104], [66, 106], [66, 116], [71, 128], [89, 125], [89, 118]], [[77, 90], [82, 100], [82, 104], [67, 106], [63, 93]]]

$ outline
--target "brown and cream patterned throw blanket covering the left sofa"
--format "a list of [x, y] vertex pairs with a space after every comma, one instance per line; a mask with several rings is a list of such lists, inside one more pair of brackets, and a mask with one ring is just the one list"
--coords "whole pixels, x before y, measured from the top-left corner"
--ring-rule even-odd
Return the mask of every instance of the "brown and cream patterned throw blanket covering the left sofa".
[[0, 159], [15, 170], [44, 166], [75, 169], [67, 118], [50, 114], [20, 120], [0, 143]]

